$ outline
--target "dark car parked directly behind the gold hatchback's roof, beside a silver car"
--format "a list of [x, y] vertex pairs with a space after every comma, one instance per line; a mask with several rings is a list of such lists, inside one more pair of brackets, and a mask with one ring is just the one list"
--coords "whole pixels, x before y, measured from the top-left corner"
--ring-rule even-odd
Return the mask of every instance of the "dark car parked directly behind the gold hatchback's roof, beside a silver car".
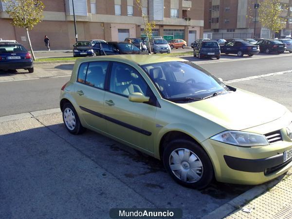
[[138, 48], [128, 42], [101, 42], [93, 46], [95, 55], [118, 55], [118, 54], [148, 54], [144, 47]]

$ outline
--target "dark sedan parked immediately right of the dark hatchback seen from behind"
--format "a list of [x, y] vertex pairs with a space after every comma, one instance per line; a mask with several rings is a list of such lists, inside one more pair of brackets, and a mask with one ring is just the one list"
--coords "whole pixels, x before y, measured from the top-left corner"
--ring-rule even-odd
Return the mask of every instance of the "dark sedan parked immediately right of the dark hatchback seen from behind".
[[243, 40], [226, 42], [220, 49], [221, 53], [225, 53], [226, 55], [237, 54], [237, 56], [253, 56], [259, 53], [258, 46]]

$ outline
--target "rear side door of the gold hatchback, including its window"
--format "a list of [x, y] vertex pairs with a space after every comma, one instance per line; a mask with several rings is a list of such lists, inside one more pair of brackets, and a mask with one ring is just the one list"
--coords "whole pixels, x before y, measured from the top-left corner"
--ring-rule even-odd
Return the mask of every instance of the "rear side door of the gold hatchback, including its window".
[[82, 63], [79, 68], [74, 99], [88, 126], [99, 131], [106, 131], [104, 113], [104, 85], [110, 62], [94, 61]]

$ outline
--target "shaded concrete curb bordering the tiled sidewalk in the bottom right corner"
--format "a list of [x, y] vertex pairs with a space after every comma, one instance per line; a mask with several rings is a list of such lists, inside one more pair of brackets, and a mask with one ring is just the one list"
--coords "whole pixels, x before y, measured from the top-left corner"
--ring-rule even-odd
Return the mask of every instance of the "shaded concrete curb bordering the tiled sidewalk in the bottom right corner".
[[285, 173], [282, 176], [264, 184], [256, 185], [250, 190], [242, 193], [237, 196], [233, 200], [227, 202], [226, 204], [221, 205], [219, 208], [210, 212], [208, 215], [202, 217], [202, 219], [222, 219], [232, 212], [241, 208], [241, 206], [245, 205], [247, 202], [255, 199], [257, 196], [263, 194], [268, 189], [274, 187], [277, 183], [287, 177], [291, 177], [292, 175], [289, 173]]

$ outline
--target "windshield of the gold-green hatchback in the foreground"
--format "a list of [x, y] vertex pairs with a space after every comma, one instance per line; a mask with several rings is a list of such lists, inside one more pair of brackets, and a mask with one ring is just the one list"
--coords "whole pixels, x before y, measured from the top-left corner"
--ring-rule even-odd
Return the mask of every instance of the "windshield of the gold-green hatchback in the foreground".
[[229, 91], [218, 78], [192, 62], [161, 62], [142, 66], [165, 99], [204, 98]]

